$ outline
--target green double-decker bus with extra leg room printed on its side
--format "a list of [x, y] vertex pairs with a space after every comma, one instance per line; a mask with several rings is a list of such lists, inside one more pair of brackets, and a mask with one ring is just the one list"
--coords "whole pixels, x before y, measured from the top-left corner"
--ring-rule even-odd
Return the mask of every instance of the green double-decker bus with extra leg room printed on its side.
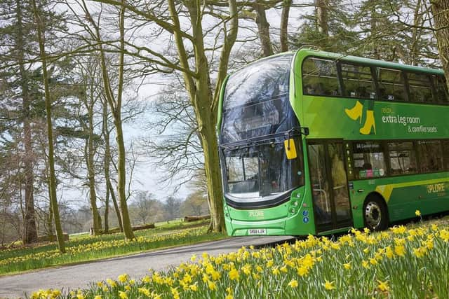
[[326, 235], [449, 210], [443, 71], [301, 49], [228, 76], [229, 235]]

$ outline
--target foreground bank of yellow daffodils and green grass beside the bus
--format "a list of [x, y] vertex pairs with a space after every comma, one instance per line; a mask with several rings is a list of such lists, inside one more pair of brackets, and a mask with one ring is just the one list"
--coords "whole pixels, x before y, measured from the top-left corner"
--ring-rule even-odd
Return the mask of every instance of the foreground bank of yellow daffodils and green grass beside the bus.
[[352, 230], [333, 241], [192, 256], [168, 272], [33, 298], [449, 298], [449, 218], [384, 232]]

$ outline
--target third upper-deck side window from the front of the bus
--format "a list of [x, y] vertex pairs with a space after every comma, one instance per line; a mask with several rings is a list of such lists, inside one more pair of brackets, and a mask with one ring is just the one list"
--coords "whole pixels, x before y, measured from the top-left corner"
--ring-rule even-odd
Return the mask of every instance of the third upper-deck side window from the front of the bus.
[[387, 101], [406, 101], [406, 88], [402, 71], [396, 69], [378, 69], [380, 99]]

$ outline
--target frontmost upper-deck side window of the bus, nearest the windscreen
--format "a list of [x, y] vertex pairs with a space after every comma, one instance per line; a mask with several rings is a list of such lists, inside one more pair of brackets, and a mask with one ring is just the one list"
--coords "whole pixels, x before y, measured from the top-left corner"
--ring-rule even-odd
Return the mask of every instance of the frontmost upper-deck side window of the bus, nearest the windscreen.
[[308, 57], [302, 64], [304, 95], [341, 95], [333, 60]]

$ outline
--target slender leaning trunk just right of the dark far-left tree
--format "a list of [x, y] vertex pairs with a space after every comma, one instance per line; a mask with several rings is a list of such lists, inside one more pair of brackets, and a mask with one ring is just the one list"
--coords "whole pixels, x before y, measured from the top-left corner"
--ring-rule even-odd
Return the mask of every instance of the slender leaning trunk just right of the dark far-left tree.
[[34, 17], [36, 18], [37, 24], [37, 37], [39, 39], [39, 52], [42, 60], [42, 76], [43, 76], [43, 87], [45, 90], [45, 108], [47, 115], [47, 134], [48, 134], [48, 166], [50, 167], [50, 177], [48, 181], [48, 188], [50, 189], [50, 202], [53, 215], [55, 217], [55, 228], [56, 237], [58, 239], [59, 251], [65, 253], [65, 243], [64, 237], [62, 236], [62, 227], [58, 208], [58, 198], [56, 197], [56, 176], [55, 176], [55, 158], [53, 149], [53, 125], [51, 122], [51, 97], [50, 90], [48, 88], [48, 74], [47, 74], [47, 60], [43, 36], [43, 20], [36, 7], [36, 0], [32, 0]]

